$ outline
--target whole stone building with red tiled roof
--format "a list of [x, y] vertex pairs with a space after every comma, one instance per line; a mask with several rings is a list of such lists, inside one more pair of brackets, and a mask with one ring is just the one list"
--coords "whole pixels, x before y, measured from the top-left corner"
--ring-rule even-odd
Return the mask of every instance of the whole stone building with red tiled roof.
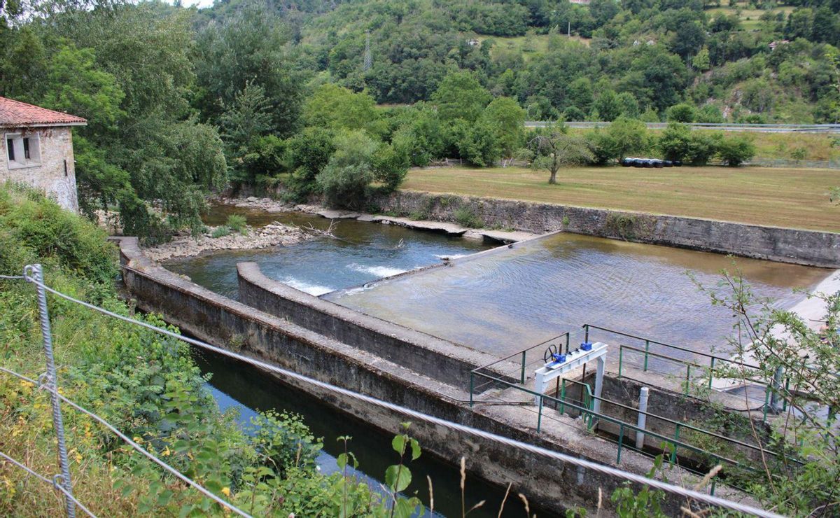
[[78, 212], [71, 126], [85, 125], [75, 115], [0, 97], [0, 182], [29, 184]]

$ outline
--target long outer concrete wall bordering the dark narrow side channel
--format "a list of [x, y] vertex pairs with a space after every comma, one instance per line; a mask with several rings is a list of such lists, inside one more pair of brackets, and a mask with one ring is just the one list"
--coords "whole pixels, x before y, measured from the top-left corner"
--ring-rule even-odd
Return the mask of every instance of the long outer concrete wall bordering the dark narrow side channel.
[[[136, 298], [138, 307], [160, 313], [168, 322], [204, 341], [223, 348], [234, 348], [239, 353], [297, 373], [448, 421], [596, 463], [615, 462], [615, 447], [611, 443], [588, 435], [579, 423], [568, 417], [558, 416], [550, 421], [544, 419], [543, 432], [537, 433], [533, 427], [536, 423], [500, 418], [498, 407], [470, 408], [465, 390], [429, 379], [384, 358], [195, 285], [146, 259], [136, 238], [123, 238], [120, 251], [121, 262], [128, 267], [123, 269], [123, 280], [129, 293]], [[293, 379], [284, 381], [386, 431], [400, 430], [399, 423], [406, 421], [406, 416], [386, 411], [380, 406], [363, 404]], [[519, 408], [509, 407], [509, 410], [517, 411]], [[525, 413], [534, 421], [533, 413]], [[451, 463], [464, 455], [471, 473], [501, 486], [510, 482], [513, 491], [528, 494], [536, 505], [554, 513], [562, 513], [564, 509], [577, 505], [593, 510], [598, 502], [598, 489], [609, 495], [623, 484], [621, 478], [588, 468], [571, 467], [558, 460], [518, 448], [503, 447], [498, 442], [442, 426], [414, 422], [412, 435], [423, 444], [425, 451]], [[648, 458], [632, 452], [622, 455], [624, 469], [643, 474], [649, 467]], [[692, 480], [690, 475], [680, 476]], [[725, 491], [721, 489], [719, 494], [725, 494]], [[672, 497], [666, 500], [665, 508], [679, 512], [683, 503], [683, 500]], [[605, 501], [605, 505], [610, 504]]]

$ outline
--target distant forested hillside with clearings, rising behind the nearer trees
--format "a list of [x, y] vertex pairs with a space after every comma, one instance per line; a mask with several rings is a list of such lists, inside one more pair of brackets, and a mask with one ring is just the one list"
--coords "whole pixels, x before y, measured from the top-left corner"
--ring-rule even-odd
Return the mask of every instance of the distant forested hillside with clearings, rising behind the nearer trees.
[[[475, 72], [529, 118], [837, 120], [840, 2], [799, 0], [363, 0], [286, 3], [302, 68], [380, 103], [428, 100], [448, 71]], [[204, 16], [229, 17], [220, 2]], [[582, 38], [570, 38], [567, 34]], [[511, 38], [512, 37], [512, 38]]]

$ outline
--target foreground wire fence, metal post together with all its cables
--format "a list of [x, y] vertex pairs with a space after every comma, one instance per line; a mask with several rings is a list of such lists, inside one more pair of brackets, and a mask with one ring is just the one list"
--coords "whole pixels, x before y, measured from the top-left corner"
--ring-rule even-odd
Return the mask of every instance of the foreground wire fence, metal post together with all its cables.
[[[136, 271], [136, 270], [134, 270], [134, 271]], [[142, 272], [138, 272], [138, 273], [142, 274]], [[695, 490], [695, 489], [688, 489], [688, 488], [683, 488], [683, 487], [680, 487], [680, 486], [677, 486], [677, 485], [674, 485], [674, 484], [669, 484], [668, 482], [665, 482], [665, 481], [662, 481], [662, 480], [659, 480], [659, 479], [649, 479], [648, 477], [646, 477], [644, 475], [641, 475], [641, 474], [635, 474], [635, 473], [627, 472], [627, 471], [624, 471], [624, 470], [619, 469], [619, 468], [614, 468], [612, 466], [607, 466], [606, 464], [595, 463], [595, 462], [586, 460], [584, 458], [577, 458], [577, 457], [573, 457], [573, 456], [565, 454], [565, 453], [554, 452], [554, 451], [549, 450], [545, 447], [539, 447], [539, 446], [530, 444], [528, 442], [517, 441], [517, 440], [512, 439], [510, 437], [503, 437], [503, 436], [497, 435], [495, 433], [486, 432], [484, 430], [473, 428], [471, 426], [465, 426], [465, 425], [455, 423], [455, 422], [452, 422], [452, 421], [446, 421], [446, 420], [441, 419], [439, 417], [429, 416], [428, 414], [424, 414], [423, 412], [414, 411], [414, 410], [406, 408], [404, 406], [398, 406], [398, 405], [390, 403], [388, 401], [378, 400], [378, 399], [376, 399], [376, 398], [374, 398], [370, 395], [360, 394], [360, 393], [354, 392], [352, 390], [347, 390], [347, 389], [344, 389], [344, 388], [336, 386], [336, 385], [330, 385], [330, 384], [325, 383], [323, 381], [320, 381], [318, 379], [313, 379], [313, 378], [310, 378], [308, 376], [304, 376], [302, 374], [297, 374], [297, 373], [295, 373], [291, 370], [282, 369], [281, 367], [278, 367], [278, 366], [273, 365], [273, 364], [266, 364], [265, 362], [261, 362], [260, 360], [257, 360], [255, 358], [250, 358], [250, 357], [245, 356], [245, 355], [240, 354], [240, 353], [234, 353], [233, 351], [230, 351], [228, 349], [219, 348], [217, 346], [211, 345], [209, 343], [202, 342], [202, 341], [194, 339], [194, 338], [184, 337], [184, 336], [181, 336], [180, 334], [177, 334], [176, 332], [171, 332], [168, 329], [164, 329], [164, 328], [161, 328], [161, 327], [156, 327], [156, 326], [151, 325], [147, 322], [141, 322], [141, 321], [129, 318], [129, 317], [124, 317], [123, 315], [119, 315], [117, 313], [114, 313], [113, 311], [108, 311], [108, 310], [106, 310], [102, 307], [92, 305], [92, 304], [90, 304], [88, 302], [85, 302], [85, 301], [80, 301], [80, 300], [78, 300], [78, 299], [76, 299], [72, 296], [66, 295], [65, 293], [62, 293], [58, 290], [50, 288], [50, 286], [46, 285], [45, 282], [44, 282], [43, 270], [41, 269], [41, 266], [39, 264], [33, 264], [33, 265], [27, 266], [24, 269], [24, 275], [16, 275], [16, 276], [3, 275], [0, 278], [2, 278], [3, 280], [26, 280], [27, 282], [29, 282], [29, 283], [31, 283], [32, 285], [35, 286], [35, 290], [36, 290], [37, 295], [38, 295], [39, 317], [40, 317], [40, 320], [41, 320], [41, 331], [43, 333], [43, 339], [44, 339], [44, 344], [45, 344], [45, 364], [46, 364], [46, 368], [47, 368], [46, 373], [43, 374], [42, 376], [40, 376], [39, 380], [37, 380], [37, 381], [35, 379], [31, 379], [27, 376], [24, 376], [23, 374], [16, 373], [11, 369], [6, 369], [6, 368], [0, 367], [0, 371], [2, 371], [5, 374], [13, 375], [13, 376], [17, 377], [18, 379], [22, 379], [25, 382], [27, 382], [31, 385], [34, 385], [39, 390], [45, 390], [45, 391], [50, 393], [50, 402], [51, 402], [52, 409], [53, 409], [53, 421], [54, 421], [56, 436], [64, 437], [64, 433], [65, 433], [64, 424], [63, 424], [63, 420], [62, 420], [62, 416], [61, 416], [61, 406], [60, 406], [61, 402], [63, 402], [67, 406], [70, 406], [71, 408], [75, 409], [76, 411], [80, 411], [82, 414], [85, 414], [86, 416], [89, 416], [93, 420], [99, 422], [102, 426], [105, 426], [106, 428], [108, 428], [108, 430], [110, 432], [113, 432], [115, 435], [117, 435], [117, 437], [119, 437], [121, 440], [123, 440], [123, 442], [126, 442], [129, 445], [129, 447], [132, 447], [134, 450], [138, 451], [139, 453], [142, 453], [146, 458], [149, 458], [152, 462], [156, 463], [161, 468], [165, 469], [165, 471], [167, 471], [168, 473], [172, 474], [173, 476], [175, 476], [178, 479], [181, 479], [181, 481], [183, 481], [186, 484], [192, 486], [192, 488], [197, 489], [199, 492], [201, 492], [202, 494], [207, 496], [207, 498], [210, 498], [211, 500], [215, 501], [218, 505], [223, 506], [223, 508], [226, 508], [230, 512], [233, 512], [237, 515], [249, 516], [248, 513], [244, 512], [243, 510], [240, 510], [236, 506], [229, 503], [227, 500], [222, 499], [217, 494], [213, 494], [213, 492], [211, 492], [208, 489], [202, 487], [201, 484], [197, 484], [197, 482], [195, 482], [194, 480], [186, 477], [185, 474], [182, 474], [181, 472], [176, 470], [176, 468], [172, 468], [170, 465], [165, 463], [163, 460], [156, 457], [153, 453], [150, 453], [150, 452], [146, 451], [143, 447], [139, 446], [139, 444], [134, 442], [132, 439], [127, 437], [125, 434], [123, 434], [122, 432], [119, 432], [119, 430], [116, 426], [113, 426], [113, 424], [109, 423], [108, 421], [103, 419], [101, 416], [97, 416], [92, 411], [88, 411], [87, 409], [83, 408], [82, 406], [79, 406], [75, 402], [69, 400], [64, 395], [60, 394], [59, 389], [58, 389], [58, 379], [57, 379], [57, 376], [55, 374], [55, 358], [53, 357], [53, 352], [52, 352], [52, 334], [51, 334], [50, 325], [49, 325], [50, 324], [50, 317], [49, 317], [49, 312], [48, 312], [48, 307], [47, 307], [47, 293], [51, 293], [54, 296], [58, 296], [62, 299], [65, 299], [66, 301], [70, 301], [72, 303], [79, 304], [81, 306], [87, 307], [88, 309], [91, 309], [92, 311], [97, 311], [99, 313], [102, 313], [103, 315], [106, 315], [108, 317], [112, 317], [112, 318], [117, 319], [119, 321], [128, 322], [129, 324], [133, 324], [133, 325], [136, 325], [136, 326], [139, 326], [139, 327], [144, 327], [144, 328], [150, 329], [153, 332], [158, 332], [162, 335], [165, 335], [165, 336], [168, 336], [168, 337], [173, 337], [173, 338], [176, 338], [176, 339], [181, 340], [181, 341], [186, 342], [186, 343], [191, 343], [192, 345], [197, 346], [198, 348], [202, 348], [202, 349], [205, 349], [205, 350], [208, 350], [208, 351], [212, 351], [213, 353], [218, 353], [218, 354], [221, 354], [221, 355], [226, 356], [228, 358], [235, 358], [235, 359], [238, 359], [239, 361], [242, 361], [246, 364], [253, 365], [253, 366], [258, 367], [260, 369], [265, 369], [265, 370], [268, 370], [268, 371], [273, 372], [275, 374], [280, 374], [282, 377], [284, 377], [286, 379], [294, 379], [294, 380], [297, 380], [298, 382], [301, 382], [301, 383], [304, 383], [304, 384], [307, 384], [307, 385], [312, 385], [312, 386], [318, 387], [322, 390], [328, 390], [329, 392], [332, 392], [333, 394], [343, 395], [345, 397], [352, 398], [354, 400], [359, 400], [359, 401], [365, 402], [365, 403], [370, 404], [370, 405], [380, 406], [381, 408], [385, 408], [386, 410], [393, 411], [393, 412], [399, 413], [403, 416], [411, 417], [413, 419], [417, 419], [418, 421], [424, 421], [424, 422], [427, 422], [427, 423], [430, 423], [430, 424], [433, 424], [433, 425], [443, 426], [443, 427], [445, 427], [449, 430], [455, 431], [455, 432], [464, 433], [464, 434], [467, 434], [467, 435], [470, 435], [470, 436], [473, 436], [473, 437], [480, 437], [480, 438], [483, 438], [483, 439], [488, 440], [488, 441], [492, 441], [492, 442], [499, 443], [501, 445], [505, 445], [507, 447], [518, 448], [518, 449], [521, 449], [523, 451], [527, 451], [529, 453], [533, 453], [533, 454], [542, 456], [544, 458], [551, 458], [551, 459], [558, 460], [558, 461], [563, 462], [563, 463], [568, 463], [570, 465], [577, 466], [579, 468], [589, 469], [589, 470], [591, 470], [593, 472], [596, 472], [596, 473], [599, 473], [599, 474], [606, 474], [608, 476], [612, 476], [612, 477], [615, 477], [617, 479], [624, 479], [624, 480], [627, 480], [629, 482], [633, 482], [635, 484], [643, 484], [643, 485], [648, 486], [652, 489], [660, 489], [660, 490], [663, 490], [663, 491], [668, 492], [670, 494], [675, 494], [675, 495], [678, 495], [680, 497], [684, 497], [688, 500], [694, 500], [694, 501], [702, 503], [702, 504], [711, 505], [711, 506], [715, 506], [715, 507], [719, 507], [719, 508], [727, 509], [727, 510], [733, 510], [733, 511], [737, 511], [737, 512], [740, 512], [740, 513], [745, 513], [745, 514], [748, 514], [748, 515], [773, 516], [773, 517], [780, 516], [780, 515], [774, 514], [772, 512], [768, 512], [766, 510], [762, 510], [762, 509], [759, 509], [757, 507], [754, 507], [753, 505], [744, 504], [743, 502], [735, 502], [735, 501], [732, 501], [732, 500], [726, 500], [726, 499], [723, 499], [723, 498], [720, 498], [720, 497], [717, 497], [717, 496], [713, 496], [711, 494], [702, 493], [701, 491], [698, 491], [698, 490]], [[566, 404], [568, 405], [569, 403], [567, 402]], [[584, 409], [584, 410], [586, 410], [586, 409]], [[81, 502], [76, 500], [76, 498], [73, 496], [72, 484], [71, 484], [71, 479], [70, 479], [70, 475], [69, 475], [69, 463], [67, 461], [67, 448], [66, 448], [66, 443], [64, 442], [64, 439], [60, 439], [58, 441], [58, 449], [59, 449], [59, 453], [58, 453], [59, 464], [60, 464], [60, 468], [61, 468], [62, 473], [61, 474], [55, 474], [51, 481], [50, 481], [49, 478], [45, 477], [43, 474], [38, 474], [38, 473], [34, 472], [34, 470], [32, 470], [31, 468], [28, 468], [27, 466], [25, 466], [24, 463], [20, 463], [18, 460], [9, 457], [5, 453], [0, 453], [0, 456], [3, 457], [3, 462], [10, 463], [14, 467], [24, 470], [27, 474], [29, 474], [31, 476], [34, 476], [35, 478], [39, 479], [41, 482], [52, 484], [55, 487], [55, 489], [58, 490], [61, 494], [63, 494], [63, 496], [65, 497], [65, 500], [66, 500], [66, 515], [68, 515], [70, 517], [75, 516], [76, 515], [76, 508], [78, 508], [79, 510], [81, 510], [85, 514], [93, 516], [92, 512], [90, 510], [88, 510], [85, 505], [81, 504]]]

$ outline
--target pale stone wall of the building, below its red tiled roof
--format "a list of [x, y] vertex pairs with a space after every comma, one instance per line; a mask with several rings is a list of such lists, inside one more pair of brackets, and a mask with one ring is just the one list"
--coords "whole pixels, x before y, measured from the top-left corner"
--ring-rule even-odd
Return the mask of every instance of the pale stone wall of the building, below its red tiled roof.
[[[11, 134], [37, 137], [40, 162], [21, 165], [10, 164], [8, 160], [8, 139]], [[73, 160], [73, 135], [71, 128], [3, 128], [3, 156], [0, 157], [0, 181], [25, 183], [45, 191], [61, 207], [79, 211], [76, 193], [76, 165]], [[20, 160], [22, 151], [16, 150], [15, 158]]]

